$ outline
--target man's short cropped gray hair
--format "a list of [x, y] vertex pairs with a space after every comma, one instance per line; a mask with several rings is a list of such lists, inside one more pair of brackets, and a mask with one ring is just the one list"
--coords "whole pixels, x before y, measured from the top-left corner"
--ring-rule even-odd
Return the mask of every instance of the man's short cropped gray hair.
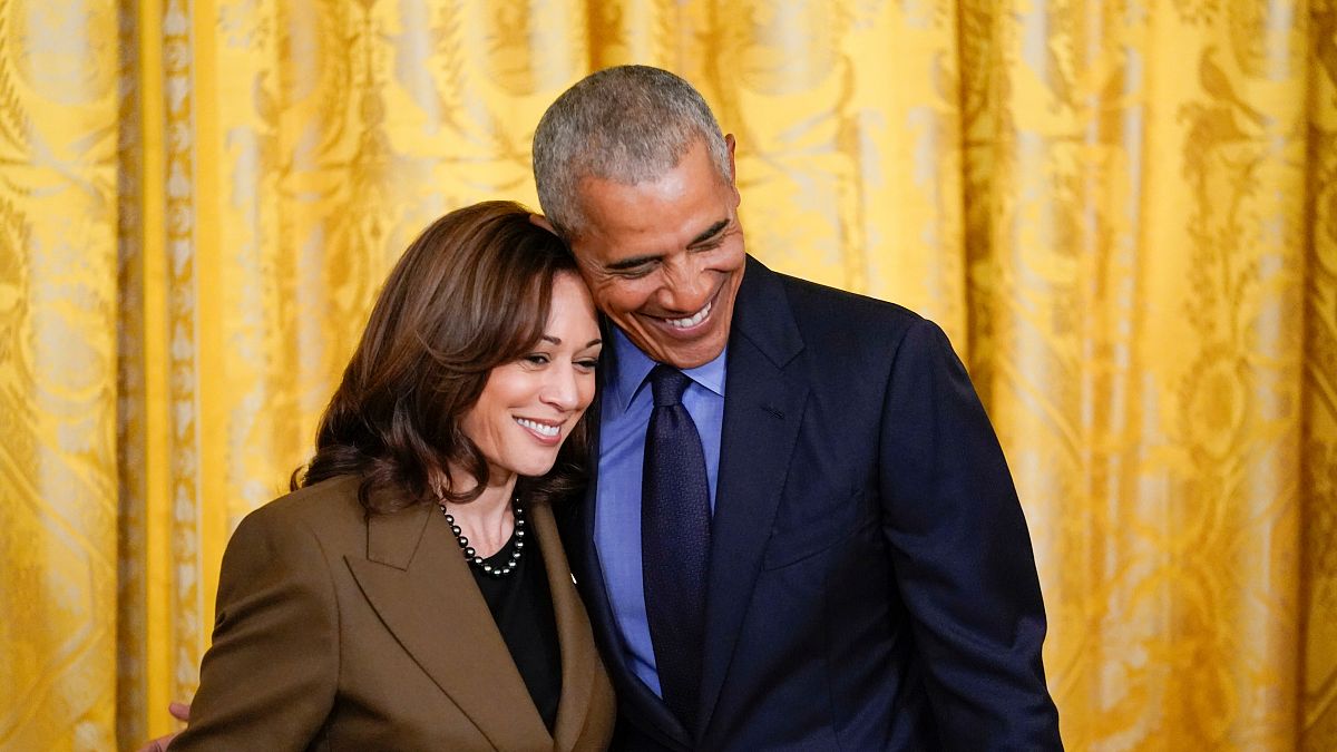
[[576, 187], [586, 178], [634, 186], [678, 166], [703, 139], [715, 170], [733, 179], [729, 147], [706, 100], [660, 68], [618, 66], [586, 76], [548, 107], [533, 132], [539, 203], [564, 238], [584, 227]]

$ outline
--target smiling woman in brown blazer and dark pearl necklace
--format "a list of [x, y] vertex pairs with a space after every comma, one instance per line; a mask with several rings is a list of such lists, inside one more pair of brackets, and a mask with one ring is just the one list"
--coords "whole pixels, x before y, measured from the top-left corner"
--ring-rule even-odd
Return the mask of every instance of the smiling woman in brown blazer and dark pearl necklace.
[[550, 508], [579, 483], [599, 348], [570, 254], [523, 207], [429, 226], [301, 483], [227, 545], [171, 749], [607, 747], [612, 690]]

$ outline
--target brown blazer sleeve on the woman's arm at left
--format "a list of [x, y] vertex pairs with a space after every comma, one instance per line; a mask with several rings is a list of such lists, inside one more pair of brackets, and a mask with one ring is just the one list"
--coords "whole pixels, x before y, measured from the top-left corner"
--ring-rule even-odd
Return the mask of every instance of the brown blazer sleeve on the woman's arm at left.
[[223, 554], [213, 646], [174, 752], [305, 749], [334, 702], [338, 610], [314, 533], [262, 507]]

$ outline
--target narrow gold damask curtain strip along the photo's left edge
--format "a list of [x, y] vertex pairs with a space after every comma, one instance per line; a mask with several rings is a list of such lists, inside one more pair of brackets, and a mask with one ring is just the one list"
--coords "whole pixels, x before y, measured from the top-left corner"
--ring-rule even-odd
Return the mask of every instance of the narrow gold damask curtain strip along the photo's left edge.
[[0, 748], [116, 708], [116, 13], [0, 1]]

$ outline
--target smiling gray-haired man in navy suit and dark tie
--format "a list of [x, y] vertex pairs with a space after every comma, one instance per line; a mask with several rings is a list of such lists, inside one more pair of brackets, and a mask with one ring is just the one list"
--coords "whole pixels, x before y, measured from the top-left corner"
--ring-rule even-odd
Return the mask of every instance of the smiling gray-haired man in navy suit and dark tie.
[[533, 142], [611, 326], [564, 539], [627, 749], [1056, 749], [1034, 554], [943, 332], [746, 256], [734, 139], [596, 72]]

